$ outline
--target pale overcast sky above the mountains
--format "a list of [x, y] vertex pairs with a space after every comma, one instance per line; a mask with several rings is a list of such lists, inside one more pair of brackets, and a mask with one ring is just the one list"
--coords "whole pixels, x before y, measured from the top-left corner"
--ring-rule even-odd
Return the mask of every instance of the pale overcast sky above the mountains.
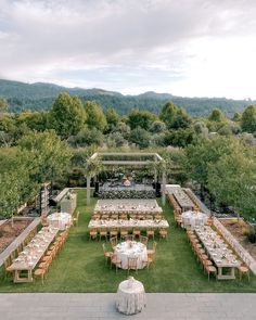
[[255, 0], [0, 0], [0, 78], [256, 99]]

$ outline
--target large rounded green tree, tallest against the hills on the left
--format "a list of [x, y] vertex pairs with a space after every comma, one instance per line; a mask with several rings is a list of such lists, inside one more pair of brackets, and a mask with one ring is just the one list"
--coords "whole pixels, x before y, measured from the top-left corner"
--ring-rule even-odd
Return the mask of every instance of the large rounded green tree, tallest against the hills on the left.
[[77, 135], [86, 123], [86, 112], [81, 101], [62, 92], [55, 99], [50, 112], [52, 127], [62, 138]]

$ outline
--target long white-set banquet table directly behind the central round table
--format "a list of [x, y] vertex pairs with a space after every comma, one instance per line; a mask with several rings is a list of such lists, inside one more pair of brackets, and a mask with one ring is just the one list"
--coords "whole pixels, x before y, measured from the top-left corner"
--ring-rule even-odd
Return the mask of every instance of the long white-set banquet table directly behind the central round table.
[[129, 220], [90, 220], [88, 228], [168, 228], [169, 223], [167, 220], [137, 220], [137, 219], [129, 219]]

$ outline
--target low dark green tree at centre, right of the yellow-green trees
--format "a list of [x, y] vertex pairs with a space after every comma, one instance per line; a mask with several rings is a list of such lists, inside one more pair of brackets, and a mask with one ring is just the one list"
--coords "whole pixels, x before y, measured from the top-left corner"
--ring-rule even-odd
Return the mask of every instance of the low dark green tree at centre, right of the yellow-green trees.
[[140, 111], [139, 108], [132, 108], [128, 114], [128, 125], [131, 129], [141, 127], [149, 130], [151, 124], [156, 119], [156, 115], [148, 111]]

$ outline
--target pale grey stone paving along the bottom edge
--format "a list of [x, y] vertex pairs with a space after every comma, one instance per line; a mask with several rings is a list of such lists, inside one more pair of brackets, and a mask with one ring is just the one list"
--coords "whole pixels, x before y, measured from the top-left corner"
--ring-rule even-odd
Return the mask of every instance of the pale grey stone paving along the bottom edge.
[[256, 294], [146, 294], [146, 308], [125, 316], [115, 309], [115, 294], [0, 294], [0, 319], [157, 319], [255, 320]]

